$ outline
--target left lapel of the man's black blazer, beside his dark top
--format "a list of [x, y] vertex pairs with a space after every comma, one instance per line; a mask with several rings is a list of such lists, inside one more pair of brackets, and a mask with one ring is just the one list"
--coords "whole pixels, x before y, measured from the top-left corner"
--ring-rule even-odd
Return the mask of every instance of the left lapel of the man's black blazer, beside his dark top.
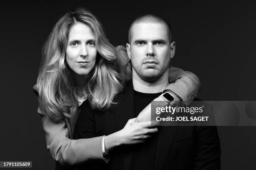
[[[133, 84], [131, 81], [128, 82], [123, 88], [123, 92], [119, 96], [118, 105], [114, 107], [118, 130], [123, 129], [127, 121], [134, 117], [133, 101]], [[132, 160], [131, 150], [127, 150], [127, 152], [124, 153], [123, 158], [124, 170], [130, 170]]]

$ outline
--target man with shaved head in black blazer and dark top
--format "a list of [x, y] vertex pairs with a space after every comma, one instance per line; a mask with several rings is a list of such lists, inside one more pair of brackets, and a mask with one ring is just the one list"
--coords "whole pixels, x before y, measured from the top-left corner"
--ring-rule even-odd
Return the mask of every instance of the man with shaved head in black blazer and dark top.
[[[137, 117], [169, 84], [168, 68], [175, 52], [169, 24], [158, 16], [144, 15], [132, 23], [128, 37], [126, 48], [133, 67], [132, 82], [126, 83], [118, 96], [118, 105], [89, 116], [81, 112], [74, 138], [108, 135], [121, 130], [127, 120]], [[88, 132], [90, 127], [95, 129]], [[111, 151], [104, 169], [220, 169], [216, 127], [161, 126], [158, 129], [159, 132], [144, 143], [123, 145]]]

